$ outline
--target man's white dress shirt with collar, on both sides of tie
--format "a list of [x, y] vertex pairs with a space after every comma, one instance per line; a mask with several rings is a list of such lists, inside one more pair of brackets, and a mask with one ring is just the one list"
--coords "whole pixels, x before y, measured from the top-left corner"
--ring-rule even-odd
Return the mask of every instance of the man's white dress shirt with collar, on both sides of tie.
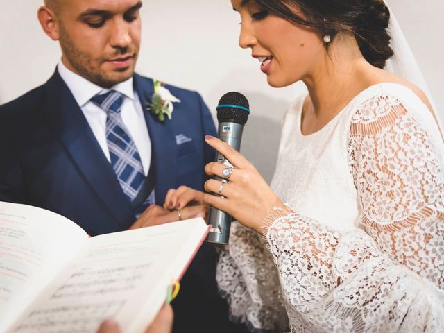
[[121, 107], [122, 120], [133, 138], [137, 151], [139, 151], [145, 176], [148, 175], [151, 163], [151, 140], [148, 135], [142, 104], [133, 89], [133, 77], [114, 85], [110, 89], [104, 89], [67, 69], [62, 60], [58, 63], [57, 69], [69, 90], [71, 90], [74, 99], [76, 99], [89, 123], [89, 127], [92, 129], [92, 133], [94, 133], [103, 153], [110, 162], [110, 151], [106, 142], [106, 112], [92, 103], [90, 99], [96, 94], [105, 94], [110, 90], [120, 92], [125, 96]]

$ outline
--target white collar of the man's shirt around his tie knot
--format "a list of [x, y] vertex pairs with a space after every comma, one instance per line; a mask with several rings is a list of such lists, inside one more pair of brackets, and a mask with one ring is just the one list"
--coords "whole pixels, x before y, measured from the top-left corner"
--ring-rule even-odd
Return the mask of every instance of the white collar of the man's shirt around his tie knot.
[[117, 83], [117, 85], [114, 85], [110, 89], [105, 89], [67, 69], [62, 60], [58, 62], [57, 69], [58, 73], [67, 84], [69, 90], [71, 90], [71, 93], [73, 94], [74, 99], [80, 108], [83, 108], [83, 106], [96, 94], [104, 94], [110, 90], [120, 92], [129, 99], [134, 99], [133, 76], [128, 78], [126, 81]]

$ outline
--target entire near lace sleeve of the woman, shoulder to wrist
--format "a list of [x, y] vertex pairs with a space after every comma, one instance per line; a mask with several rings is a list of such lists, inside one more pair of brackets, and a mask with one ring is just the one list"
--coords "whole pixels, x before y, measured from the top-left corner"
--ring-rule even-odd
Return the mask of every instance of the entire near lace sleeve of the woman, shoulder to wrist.
[[429, 133], [391, 96], [355, 114], [348, 152], [366, 232], [287, 206], [268, 215], [292, 332], [444, 332], [442, 142]]

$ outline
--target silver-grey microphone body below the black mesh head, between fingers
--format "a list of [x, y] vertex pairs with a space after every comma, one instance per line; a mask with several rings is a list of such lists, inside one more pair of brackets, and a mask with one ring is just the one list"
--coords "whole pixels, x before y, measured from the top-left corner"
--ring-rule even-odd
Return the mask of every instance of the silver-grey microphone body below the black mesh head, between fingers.
[[[219, 139], [223, 142], [229, 144], [236, 151], [241, 149], [241, 139], [242, 132], [244, 131], [244, 124], [233, 123], [233, 122], [220, 122], [219, 123]], [[232, 167], [230, 161], [228, 161], [225, 156], [221, 153], [217, 153], [216, 162], [225, 164], [227, 167]], [[220, 178], [214, 176], [215, 180], [220, 182], [228, 182], [225, 178]], [[219, 194], [214, 194], [221, 198]], [[207, 242], [213, 244], [228, 244], [228, 239], [230, 238], [230, 226], [232, 222], [232, 217], [215, 207], [210, 207], [210, 232], [207, 236]]]

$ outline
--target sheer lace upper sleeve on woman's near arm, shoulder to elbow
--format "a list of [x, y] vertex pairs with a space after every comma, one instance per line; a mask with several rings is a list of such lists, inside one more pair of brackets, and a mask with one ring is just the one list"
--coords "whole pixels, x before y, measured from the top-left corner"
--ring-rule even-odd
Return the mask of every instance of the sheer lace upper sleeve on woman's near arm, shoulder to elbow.
[[[374, 96], [350, 125], [350, 168], [361, 223], [391, 258], [444, 288], [443, 142], [396, 96]], [[440, 267], [441, 266], [441, 267]]]

